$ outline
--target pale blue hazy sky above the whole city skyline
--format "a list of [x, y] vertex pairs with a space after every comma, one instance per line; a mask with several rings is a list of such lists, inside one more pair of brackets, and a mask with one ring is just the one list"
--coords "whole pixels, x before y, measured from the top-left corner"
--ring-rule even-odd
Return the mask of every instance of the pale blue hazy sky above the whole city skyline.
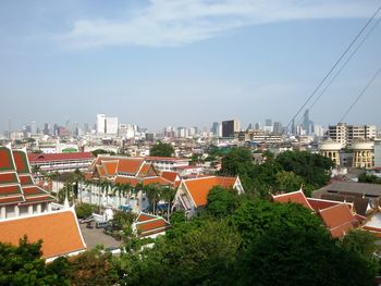
[[[97, 113], [150, 130], [230, 119], [286, 125], [380, 4], [0, 1], [0, 130], [9, 119], [17, 129], [94, 124]], [[315, 123], [336, 124], [381, 67], [380, 15], [310, 109]], [[378, 76], [344, 121], [381, 125], [380, 90]]]

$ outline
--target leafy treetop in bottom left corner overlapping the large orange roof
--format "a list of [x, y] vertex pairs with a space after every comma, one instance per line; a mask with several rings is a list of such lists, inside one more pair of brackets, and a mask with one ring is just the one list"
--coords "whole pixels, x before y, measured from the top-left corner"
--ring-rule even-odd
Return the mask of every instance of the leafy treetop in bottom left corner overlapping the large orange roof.
[[19, 247], [0, 244], [0, 285], [70, 285], [65, 260], [47, 265], [41, 245], [41, 240], [29, 244], [26, 237], [20, 239]]

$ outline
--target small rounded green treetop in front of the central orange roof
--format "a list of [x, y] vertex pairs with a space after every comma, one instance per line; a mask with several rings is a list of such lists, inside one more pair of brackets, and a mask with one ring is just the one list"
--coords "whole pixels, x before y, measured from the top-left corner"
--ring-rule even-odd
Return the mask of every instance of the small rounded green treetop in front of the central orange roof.
[[233, 189], [214, 186], [208, 194], [207, 210], [213, 216], [226, 216], [237, 204], [237, 196]]

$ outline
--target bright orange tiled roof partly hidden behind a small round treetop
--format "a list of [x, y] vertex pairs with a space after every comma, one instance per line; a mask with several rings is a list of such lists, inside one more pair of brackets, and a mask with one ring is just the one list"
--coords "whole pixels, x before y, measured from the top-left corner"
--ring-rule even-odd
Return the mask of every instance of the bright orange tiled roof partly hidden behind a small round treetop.
[[207, 204], [207, 197], [212, 187], [221, 186], [224, 188], [232, 188], [236, 182], [236, 177], [211, 176], [184, 179], [183, 182], [195, 201], [196, 207], [202, 207]]

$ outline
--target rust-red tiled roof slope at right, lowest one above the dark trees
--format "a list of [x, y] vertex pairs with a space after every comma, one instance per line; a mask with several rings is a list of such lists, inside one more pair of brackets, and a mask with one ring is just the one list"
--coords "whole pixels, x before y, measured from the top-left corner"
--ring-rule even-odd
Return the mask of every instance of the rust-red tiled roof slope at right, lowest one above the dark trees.
[[333, 238], [344, 236], [348, 231], [358, 224], [358, 221], [352, 214], [346, 203], [340, 203], [320, 210], [318, 213]]

